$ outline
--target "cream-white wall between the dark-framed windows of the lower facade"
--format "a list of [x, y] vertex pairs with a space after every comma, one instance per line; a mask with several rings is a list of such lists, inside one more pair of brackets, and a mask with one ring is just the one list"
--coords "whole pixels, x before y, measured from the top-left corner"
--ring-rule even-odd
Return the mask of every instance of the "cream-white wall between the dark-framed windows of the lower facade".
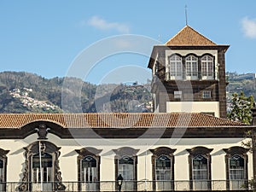
[[[25, 140], [0, 140], [1, 148], [10, 150], [8, 156], [7, 181], [16, 182], [21, 181], [22, 172], [25, 163], [23, 149], [29, 144], [37, 141], [37, 135], [33, 134]], [[137, 179], [152, 180], [152, 154], [148, 149], [158, 147], [176, 148], [174, 153], [175, 165], [174, 175], [175, 180], [189, 180], [189, 153], [187, 148], [194, 148], [204, 146], [213, 148], [212, 150], [212, 180], [225, 180], [225, 153], [223, 148], [230, 148], [232, 146], [241, 146], [243, 138], [222, 138], [222, 139], [80, 139], [74, 141], [73, 139], [60, 139], [52, 134], [49, 134], [50, 143], [54, 143], [57, 147], [61, 147], [60, 168], [62, 181], [78, 181], [77, 156], [74, 151], [84, 147], [94, 147], [102, 149], [101, 157], [101, 180], [113, 181], [114, 175], [114, 153], [112, 149], [121, 147], [131, 147], [140, 149], [137, 153]], [[146, 152], [147, 149], [147, 152]], [[147, 154], [147, 155], [146, 155]], [[146, 160], [146, 161], [145, 161]], [[145, 171], [146, 162], [146, 171]], [[248, 153], [248, 178], [253, 177], [253, 160], [252, 154]]]

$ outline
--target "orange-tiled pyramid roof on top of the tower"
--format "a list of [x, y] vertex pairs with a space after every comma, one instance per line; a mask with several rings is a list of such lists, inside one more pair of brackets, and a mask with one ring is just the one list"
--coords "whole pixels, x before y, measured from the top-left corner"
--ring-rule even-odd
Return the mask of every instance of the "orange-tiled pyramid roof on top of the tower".
[[166, 45], [216, 46], [217, 44], [196, 32], [192, 27], [184, 26], [181, 31], [166, 42]]

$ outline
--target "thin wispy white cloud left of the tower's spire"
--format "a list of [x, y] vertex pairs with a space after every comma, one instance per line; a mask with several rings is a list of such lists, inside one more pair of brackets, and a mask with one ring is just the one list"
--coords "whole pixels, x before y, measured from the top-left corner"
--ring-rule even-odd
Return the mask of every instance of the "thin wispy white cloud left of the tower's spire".
[[98, 29], [101, 30], [116, 30], [118, 32], [122, 33], [129, 33], [130, 29], [129, 26], [118, 23], [118, 22], [108, 22], [107, 20], [103, 20], [102, 18], [98, 16], [93, 16], [88, 20], [88, 24], [90, 26], [95, 26]]

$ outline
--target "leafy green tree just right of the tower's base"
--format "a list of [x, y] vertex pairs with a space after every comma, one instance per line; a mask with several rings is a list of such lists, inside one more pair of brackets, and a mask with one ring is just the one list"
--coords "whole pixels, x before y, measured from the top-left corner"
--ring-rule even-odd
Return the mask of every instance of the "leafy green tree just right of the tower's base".
[[232, 106], [230, 113], [228, 113], [228, 118], [250, 125], [253, 119], [253, 96], [247, 97], [243, 91], [240, 92], [240, 95], [233, 93], [232, 96]]

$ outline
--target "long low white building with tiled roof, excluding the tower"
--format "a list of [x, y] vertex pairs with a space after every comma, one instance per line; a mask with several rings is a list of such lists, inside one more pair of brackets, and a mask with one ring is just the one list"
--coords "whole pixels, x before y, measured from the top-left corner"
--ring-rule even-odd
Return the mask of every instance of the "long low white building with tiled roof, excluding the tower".
[[247, 189], [252, 126], [203, 113], [1, 114], [3, 191]]

